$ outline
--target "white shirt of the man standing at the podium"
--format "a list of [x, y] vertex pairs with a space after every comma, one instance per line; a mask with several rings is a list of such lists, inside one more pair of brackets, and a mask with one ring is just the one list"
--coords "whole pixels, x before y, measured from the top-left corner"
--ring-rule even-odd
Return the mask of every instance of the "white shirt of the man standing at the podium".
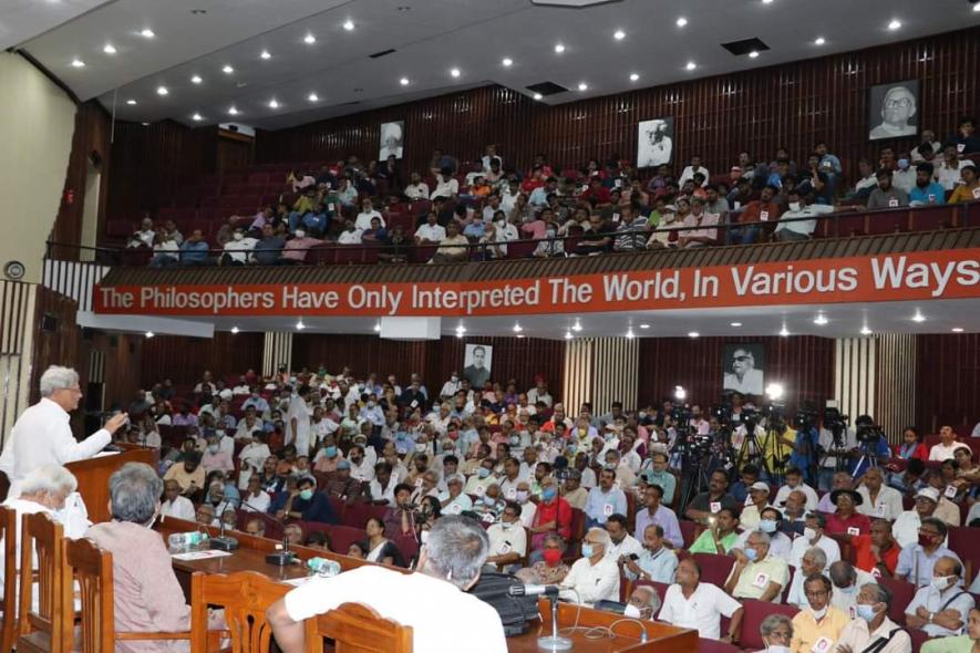
[[51, 400], [42, 398], [21, 413], [0, 456], [0, 471], [10, 479], [8, 496], [20, 496], [20, 483], [32, 469], [85, 460], [111, 442], [112, 434], [104, 428], [82, 442], [75, 440], [69, 414]]

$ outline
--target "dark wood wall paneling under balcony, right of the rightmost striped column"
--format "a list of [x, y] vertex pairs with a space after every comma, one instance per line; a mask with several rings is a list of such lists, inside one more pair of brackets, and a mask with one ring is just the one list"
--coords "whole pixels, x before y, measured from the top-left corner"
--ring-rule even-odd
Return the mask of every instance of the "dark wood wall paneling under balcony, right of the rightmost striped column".
[[918, 352], [918, 426], [938, 433], [949, 424], [969, 436], [980, 422], [980, 333], [920, 334]]

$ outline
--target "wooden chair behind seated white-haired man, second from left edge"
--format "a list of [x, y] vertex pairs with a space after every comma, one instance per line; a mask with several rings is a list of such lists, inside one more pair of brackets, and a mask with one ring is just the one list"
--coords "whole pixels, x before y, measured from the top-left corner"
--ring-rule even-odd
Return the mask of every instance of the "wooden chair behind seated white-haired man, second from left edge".
[[[47, 512], [24, 515], [20, 540], [19, 653], [65, 653], [71, 649], [73, 610], [64, 559], [64, 528]], [[37, 576], [34, 552], [38, 556]], [[33, 609], [34, 580], [38, 609]]]

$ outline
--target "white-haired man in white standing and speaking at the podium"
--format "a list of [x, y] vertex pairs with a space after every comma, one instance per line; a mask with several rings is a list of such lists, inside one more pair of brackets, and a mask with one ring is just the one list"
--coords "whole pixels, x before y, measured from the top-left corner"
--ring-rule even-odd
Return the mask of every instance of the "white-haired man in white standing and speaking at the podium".
[[0, 471], [10, 479], [8, 496], [20, 494], [20, 484], [32, 470], [43, 465], [64, 465], [91, 458], [112, 442], [112, 434], [126, 423], [126, 414], [111, 417], [82, 442], [78, 442], [69, 424], [69, 413], [79, 407], [82, 390], [79, 373], [71, 367], [52, 365], [41, 375], [41, 401], [18, 418], [3, 455]]

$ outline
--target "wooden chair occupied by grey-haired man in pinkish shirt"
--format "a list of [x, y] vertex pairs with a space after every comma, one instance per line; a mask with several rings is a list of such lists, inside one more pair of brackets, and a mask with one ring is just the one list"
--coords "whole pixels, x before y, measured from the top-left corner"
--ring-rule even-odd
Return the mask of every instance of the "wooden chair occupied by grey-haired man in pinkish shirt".
[[79, 582], [82, 620], [76, 641], [83, 653], [114, 653], [116, 641], [190, 640], [190, 631], [116, 632], [112, 553], [87, 539], [66, 540], [64, 553], [71, 574], [68, 587], [72, 587], [72, 577]]

